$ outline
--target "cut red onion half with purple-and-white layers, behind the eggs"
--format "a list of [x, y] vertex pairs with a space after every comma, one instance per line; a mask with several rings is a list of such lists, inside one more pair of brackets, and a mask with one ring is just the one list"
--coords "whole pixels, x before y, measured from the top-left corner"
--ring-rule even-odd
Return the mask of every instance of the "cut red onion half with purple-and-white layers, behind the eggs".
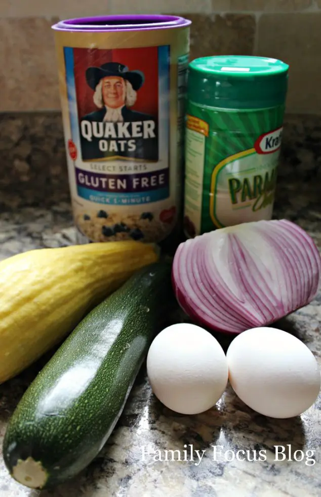
[[225, 333], [266, 326], [311, 302], [321, 257], [286, 219], [217, 229], [181, 243], [173, 286], [185, 313]]

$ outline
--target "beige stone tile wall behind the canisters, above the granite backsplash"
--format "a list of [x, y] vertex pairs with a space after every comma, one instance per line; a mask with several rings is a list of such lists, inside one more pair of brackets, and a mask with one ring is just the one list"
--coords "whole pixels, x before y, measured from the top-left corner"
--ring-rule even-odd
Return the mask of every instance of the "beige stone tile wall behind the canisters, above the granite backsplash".
[[321, 0], [0, 0], [0, 112], [60, 109], [50, 28], [58, 18], [139, 12], [190, 18], [191, 58], [288, 62], [288, 112], [321, 114]]

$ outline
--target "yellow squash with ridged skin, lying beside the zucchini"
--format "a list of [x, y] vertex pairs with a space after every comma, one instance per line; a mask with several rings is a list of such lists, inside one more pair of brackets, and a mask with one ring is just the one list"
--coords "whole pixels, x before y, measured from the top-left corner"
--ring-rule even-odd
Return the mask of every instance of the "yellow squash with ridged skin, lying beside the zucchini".
[[71, 333], [132, 274], [157, 260], [135, 241], [38, 249], [0, 262], [0, 383]]

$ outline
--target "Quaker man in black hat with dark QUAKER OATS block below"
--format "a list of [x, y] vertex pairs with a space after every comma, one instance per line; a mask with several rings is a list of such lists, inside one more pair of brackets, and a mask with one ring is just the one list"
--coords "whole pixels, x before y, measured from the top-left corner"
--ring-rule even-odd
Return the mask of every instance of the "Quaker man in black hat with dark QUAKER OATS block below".
[[157, 160], [155, 118], [131, 109], [144, 84], [144, 74], [118, 62], [107, 62], [88, 68], [86, 81], [94, 90], [98, 110], [81, 119], [83, 158], [126, 156]]

